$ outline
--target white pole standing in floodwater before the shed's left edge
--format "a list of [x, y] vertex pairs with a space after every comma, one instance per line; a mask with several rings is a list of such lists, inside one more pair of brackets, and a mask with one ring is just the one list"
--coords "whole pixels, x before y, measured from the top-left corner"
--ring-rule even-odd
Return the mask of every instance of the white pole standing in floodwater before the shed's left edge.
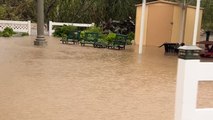
[[142, 54], [143, 50], [143, 38], [144, 38], [144, 23], [145, 23], [145, 11], [146, 11], [146, 0], [142, 1], [142, 12], [141, 12], [141, 28], [140, 28], [140, 43], [139, 43], [139, 54]]

